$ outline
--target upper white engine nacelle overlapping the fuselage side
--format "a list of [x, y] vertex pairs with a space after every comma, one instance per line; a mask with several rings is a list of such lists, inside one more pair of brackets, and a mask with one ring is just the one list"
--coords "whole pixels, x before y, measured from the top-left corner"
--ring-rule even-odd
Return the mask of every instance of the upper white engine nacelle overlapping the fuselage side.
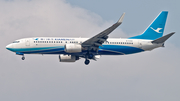
[[79, 53], [82, 52], [82, 46], [80, 44], [66, 44], [65, 52], [67, 53]]

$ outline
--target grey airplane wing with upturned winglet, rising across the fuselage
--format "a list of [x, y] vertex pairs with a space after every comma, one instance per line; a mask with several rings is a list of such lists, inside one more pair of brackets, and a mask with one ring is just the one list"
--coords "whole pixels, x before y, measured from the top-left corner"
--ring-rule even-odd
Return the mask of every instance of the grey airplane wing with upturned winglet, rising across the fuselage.
[[85, 48], [85, 50], [96, 50], [99, 48], [99, 46], [102, 46], [102, 44], [107, 40], [108, 35], [115, 30], [123, 21], [125, 13], [122, 14], [118, 22], [113, 24], [111, 27], [107, 28], [106, 30], [102, 31], [101, 33], [95, 35], [94, 37], [84, 41], [81, 45]]

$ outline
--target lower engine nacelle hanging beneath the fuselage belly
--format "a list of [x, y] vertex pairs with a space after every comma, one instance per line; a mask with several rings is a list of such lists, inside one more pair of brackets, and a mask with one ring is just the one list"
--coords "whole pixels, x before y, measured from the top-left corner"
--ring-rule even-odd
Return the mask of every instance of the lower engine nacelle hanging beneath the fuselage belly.
[[59, 62], [75, 62], [79, 57], [74, 55], [59, 55]]

